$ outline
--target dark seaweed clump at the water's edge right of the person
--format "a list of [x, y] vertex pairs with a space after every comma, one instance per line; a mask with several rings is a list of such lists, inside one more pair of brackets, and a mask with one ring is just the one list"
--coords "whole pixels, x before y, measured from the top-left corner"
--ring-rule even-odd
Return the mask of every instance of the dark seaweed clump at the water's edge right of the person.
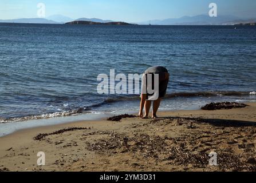
[[237, 103], [237, 102], [212, 102], [203, 106], [202, 110], [220, 110], [220, 109], [233, 109], [233, 108], [245, 108], [246, 104]]

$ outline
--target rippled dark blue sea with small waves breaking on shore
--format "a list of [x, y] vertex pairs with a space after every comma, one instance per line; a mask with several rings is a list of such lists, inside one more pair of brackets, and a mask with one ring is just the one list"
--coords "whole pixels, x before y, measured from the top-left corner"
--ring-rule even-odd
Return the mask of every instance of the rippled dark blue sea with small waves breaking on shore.
[[256, 27], [1, 23], [0, 122], [135, 112], [138, 96], [98, 94], [97, 75], [156, 65], [171, 75], [160, 110], [256, 101]]

